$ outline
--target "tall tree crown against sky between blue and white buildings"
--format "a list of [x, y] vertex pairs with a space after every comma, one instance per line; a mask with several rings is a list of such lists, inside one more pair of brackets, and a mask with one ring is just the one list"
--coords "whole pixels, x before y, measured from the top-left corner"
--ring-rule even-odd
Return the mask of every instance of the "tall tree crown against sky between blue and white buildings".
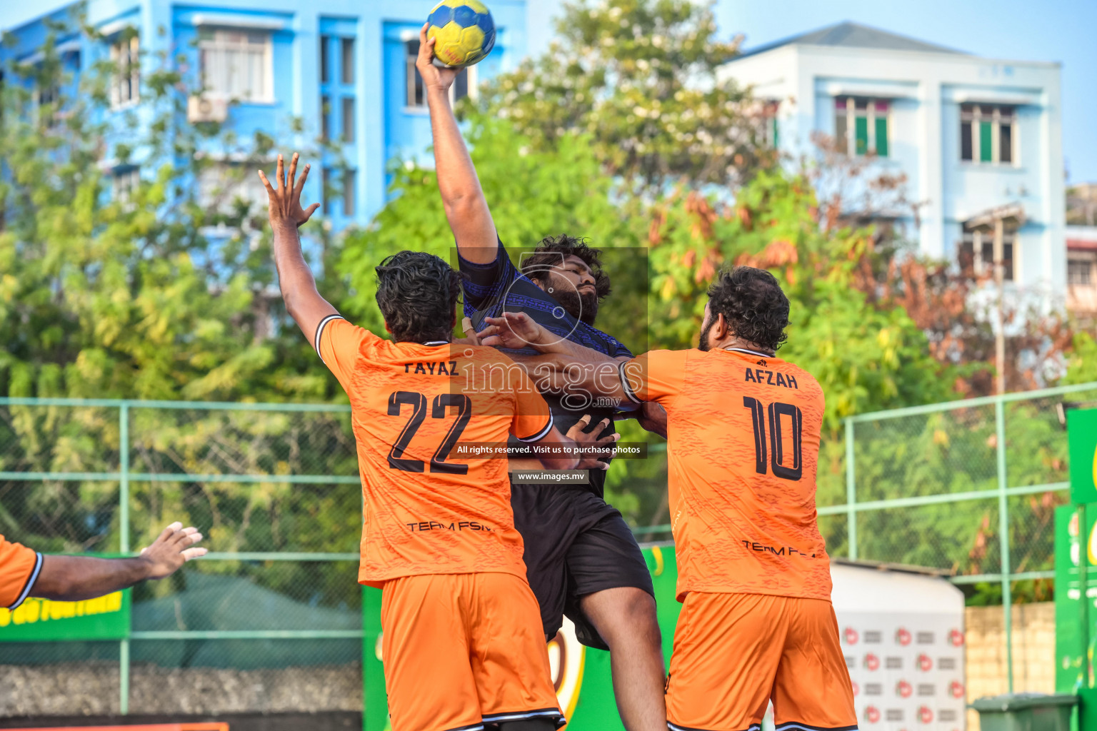
[[759, 144], [762, 105], [717, 69], [738, 41], [716, 38], [712, 3], [565, 3], [558, 39], [485, 87], [479, 105], [538, 149], [589, 135], [597, 159], [630, 185], [686, 178], [727, 183], [772, 155]]

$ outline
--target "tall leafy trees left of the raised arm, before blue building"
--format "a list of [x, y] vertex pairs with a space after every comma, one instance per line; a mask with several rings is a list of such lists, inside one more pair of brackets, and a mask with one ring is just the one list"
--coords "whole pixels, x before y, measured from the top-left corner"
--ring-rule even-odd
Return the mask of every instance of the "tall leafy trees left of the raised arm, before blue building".
[[[139, 107], [111, 111], [116, 69], [93, 65], [73, 79], [54, 37], [41, 61], [4, 69], [0, 393], [341, 398], [286, 321], [265, 205], [245, 186], [257, 168], [270, 169], [272, 139], [185, 124], [188, 79], [168, 58], [145, 73]], [[301, 132], [293, 121], [284, 126]], [[323, 226], [312, 230], [319, 238], [310, 252], [323, 262], [332, 242]], [[321, 285], [337, 301], [339, 282]], [[131, 469], [161, 479], [357, 475], [342, 415], [143, 408], [128, 429]], [[120, 449], [116, 409], [0, 408], [0, 471], [117, 472]], [[182, 519], [217, 551], [353, 551], [361, 525], [354, 484], [136, 480], [131, 495], [136, 548]], [[45, 551], [117, 550], [117, 501], [116, 481], [0, 481], [0, 533]], [[233, 561], [193, 570], [250, 575]], [[298, 597], [357, 602], [353, 574], [341, 564], [286, 563], [255, 580]], [[143, 591], [170, 590], [165, 582]]]

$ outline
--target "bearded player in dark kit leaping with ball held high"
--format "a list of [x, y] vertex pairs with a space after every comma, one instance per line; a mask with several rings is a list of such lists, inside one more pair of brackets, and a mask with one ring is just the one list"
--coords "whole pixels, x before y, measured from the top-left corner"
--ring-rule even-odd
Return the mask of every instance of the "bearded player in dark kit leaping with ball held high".
[[[584, 358], [610, 364], [631, 358], [624, 345], [592, 324], [598, 300], [609, 290], [596, 250], [559, 237], [538, 247], [522, 271], [511, 263], [450, 106], [449, 89], [456, 71], [438, 68], [432, 60], [433, 42], [425, 26], [416, 66], [430, 107], [438, 186], [461, 271], [468, 277], [465, 313], [483, 325], [487, 316], [521, 310]], [[575, 424], [584, 415], [599, 422], [614, 414], [612, 408], [572, 410], [559, 397], [546, 393], [546, 398], [562, 425]], [[512, 476], [536, 469], [513, 457], [509, 467]], [[625, 728], [660, 731], [666, 722], [664, 665], [652, 578], [621, 513], [603, 499], [604, 480], [604, 471], [595, 469], [589, 484], [512, 482], [514, 522], [525, 540], [525, 564], [545, 637], [555, 636], [563, 616], [568, 616], [584, 644], [610, 651]]]

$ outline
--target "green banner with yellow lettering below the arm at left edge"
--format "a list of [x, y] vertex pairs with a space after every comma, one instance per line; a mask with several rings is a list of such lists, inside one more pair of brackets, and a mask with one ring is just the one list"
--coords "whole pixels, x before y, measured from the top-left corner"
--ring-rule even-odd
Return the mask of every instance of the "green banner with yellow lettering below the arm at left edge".
[[129, 603], [128, 589], [82, 602], [29, 598], [14, 610], [0, 609], [0, 642], [124, 640]]

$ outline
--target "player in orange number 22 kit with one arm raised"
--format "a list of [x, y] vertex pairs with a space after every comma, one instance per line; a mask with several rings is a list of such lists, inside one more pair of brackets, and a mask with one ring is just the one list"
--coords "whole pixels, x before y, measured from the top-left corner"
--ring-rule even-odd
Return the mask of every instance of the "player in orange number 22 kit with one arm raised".
[[453, 345], [461, 276], [438, 256], [403, 251], [376, 267], [392, 340], [344, 320], [301, 253], [297, 228], [316, 205], [302, 208], [308, 167], [295, 181], [296, 167], [294, 155], [286, 179], [279, 156], [278, 190], [259, 174], [286, 310], [350, 398], [364, 514], [359, 581], [382, 590], [393, 730], [558, 728], [506, 462], [462, 446], [506, 444], [509, 433], [547, 448], [543, 467], [573, 469], [577, 445], [607, 442], [587, 436], [586, 423], [563, 436], [520, 368], [476, 388], [477, 372], [509, 361], [491, 347]]

